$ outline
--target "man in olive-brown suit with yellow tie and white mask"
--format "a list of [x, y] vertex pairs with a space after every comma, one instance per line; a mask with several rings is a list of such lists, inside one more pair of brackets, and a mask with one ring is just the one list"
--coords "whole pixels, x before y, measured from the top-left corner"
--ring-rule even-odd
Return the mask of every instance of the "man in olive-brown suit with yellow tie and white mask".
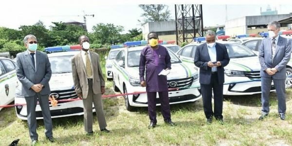
[[100, 67], [99, 55], [89, 51], [89, 38], [86, 35], [80, 36], [78, 42], [82, 50], [72, 58], [72, 74], [75, 91], [83, 101], [84, 129], [87, 135], [93, 134], [93, 102], [100, 130], [110, 132], [106, 129], [107, 123], [102, 105], [101, 95], [105, 93], [105, 80]]

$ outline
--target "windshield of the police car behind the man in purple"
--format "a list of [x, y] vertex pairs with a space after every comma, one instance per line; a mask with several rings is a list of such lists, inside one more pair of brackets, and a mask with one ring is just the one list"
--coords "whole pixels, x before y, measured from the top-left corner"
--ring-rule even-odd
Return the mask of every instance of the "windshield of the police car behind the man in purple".
[[[128, 51], [128, 67], [139, 66], [142, 50]], [[171, 64], [182, 63], [180, 59], [171, 51], [168, 51]]]

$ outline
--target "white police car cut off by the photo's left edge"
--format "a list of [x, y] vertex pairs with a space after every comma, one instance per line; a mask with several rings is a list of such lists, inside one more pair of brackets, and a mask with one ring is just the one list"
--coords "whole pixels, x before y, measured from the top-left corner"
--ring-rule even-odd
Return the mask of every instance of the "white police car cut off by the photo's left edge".
[[15, 86], [18, 81], [15, 66], [13, 60], [0, 57], [0, 105], [7, 105], [14, 100]]

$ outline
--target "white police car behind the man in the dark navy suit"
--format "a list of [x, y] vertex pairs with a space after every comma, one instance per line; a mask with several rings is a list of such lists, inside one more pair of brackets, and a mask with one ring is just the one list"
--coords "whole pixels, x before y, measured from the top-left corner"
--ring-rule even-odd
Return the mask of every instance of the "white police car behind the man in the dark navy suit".
[[[194, 65], [196, 48], [205, 41], [205, 37], [196, 38], [177, 52], [183, 62]], [[224, 95], [252, 95], [261, 93], [260, 64], [258, 56], [252, 50], [230, 41], [218, 41], [227, 48], [230, 62], [225, 69]], [[199, 68], [198, 68], [199, 69]], [[272, 85], [271, 90], [274, 90]]]

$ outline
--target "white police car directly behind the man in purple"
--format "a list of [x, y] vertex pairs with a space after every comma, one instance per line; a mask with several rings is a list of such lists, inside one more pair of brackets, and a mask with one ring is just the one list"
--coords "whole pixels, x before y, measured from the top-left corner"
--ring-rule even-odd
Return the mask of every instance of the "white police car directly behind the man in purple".
[[[147, 44], [147, 41], [126, 42], [126, 46]], [[130, 45], [129, 45], [130, 44]], [[113, 88], [122, 93], [145, 92], [146, 88], [141, 87], [139, 78], [140, 54], [145, 46], [125, 48], [119, 51], [113, 61]], [[201, 98], [198, 88], [189, 88], [190, 86], [199, 86], [198, 71], [189, 64], [182, 61], [168, 49], [171, 57], [171, 71], [167, 75], [169, 88], [180, 88], [179, 90], [169, 91], [170, 104], [196, 101]], [[185, 87], [185, 88], [184, 88]], [[125, 97], [126, 108], [131, 111], [135, 107], [147, 107], [146, 94], [128, 95]], [[160, 105], [159, 96], [156, 100]]]

